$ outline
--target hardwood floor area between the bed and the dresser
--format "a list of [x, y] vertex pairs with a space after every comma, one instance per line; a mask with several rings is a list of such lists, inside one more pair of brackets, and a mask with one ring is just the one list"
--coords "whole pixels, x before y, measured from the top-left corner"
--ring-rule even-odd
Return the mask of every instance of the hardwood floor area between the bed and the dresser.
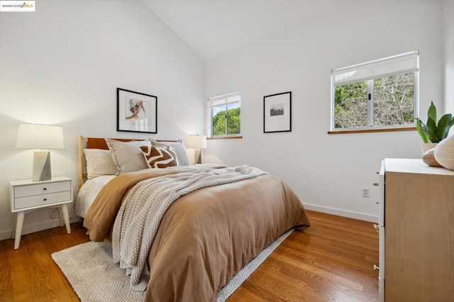
[[231, 296], [232, 301], [378, 301], [373, 223], [307, 211], [294, 231]]

